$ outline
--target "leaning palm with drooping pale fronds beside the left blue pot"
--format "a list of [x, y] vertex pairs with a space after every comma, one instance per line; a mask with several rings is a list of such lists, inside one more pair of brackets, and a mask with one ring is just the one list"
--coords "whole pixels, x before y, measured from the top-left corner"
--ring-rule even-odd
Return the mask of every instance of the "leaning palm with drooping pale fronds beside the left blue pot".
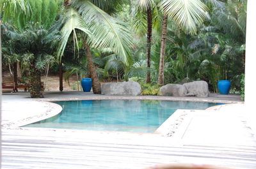
[[[61, 29], [61, 44], [58, 50], [58, 56], [61, 59], [68, 38], [73, 33], [74, 41], [77, 43], [76, 31], [84, 33], [83, 45], [86, 49], [88, 59], [88, 69], [92, 77], [93, 93], [100, 94], [100, 82], [97, 77], [95, 65], [93, 64], [91, 48], [109, 47], [118, 55], [118, 57], [128, 64], [127, 57], [131, 55], [131, 36], [127, 24], [111, 17], [104, 10], [109, 10], [109, 6], [120, 4], [120, 1], [102, 2], [74, 0], [67, 6], [64, 15], [59, 20]], [[96, 5], [99, 5], [100, 8]], [[109, 5], [110, 4], [110, 5]], [[77, 44], [78, 47], [78, 44]]]

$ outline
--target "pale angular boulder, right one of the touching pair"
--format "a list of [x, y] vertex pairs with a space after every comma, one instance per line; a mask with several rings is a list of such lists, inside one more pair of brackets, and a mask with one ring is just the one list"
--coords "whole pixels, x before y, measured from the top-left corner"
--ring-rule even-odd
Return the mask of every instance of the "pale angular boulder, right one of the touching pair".
[[196, 96], [196, 97], [208, 97], [209, 89], [208, 84], [205, 81], [194, 81], [183, 84], [188, 90], [186, 96]]

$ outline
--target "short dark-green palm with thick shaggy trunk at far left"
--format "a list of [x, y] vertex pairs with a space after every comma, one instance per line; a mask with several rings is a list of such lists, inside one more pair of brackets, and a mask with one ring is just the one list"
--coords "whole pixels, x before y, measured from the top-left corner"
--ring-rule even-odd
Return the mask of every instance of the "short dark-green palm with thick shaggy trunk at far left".
[[[28, 26], [19, 32], [4, 29], [4, 40], [12, 41], [13, 55], [19, 55], [20, 61], [29, 62], [29, 92], [31, 98], [44, 98], [44, 85], [41, 82], [42, 71], [54, 61], [51, 55], [51, 43], [46, 40], [48, 31], [42, 26]], [[51, 38], [51, 37], [50, 37]], [[21, 60], [22, 59], [22, 60]]]

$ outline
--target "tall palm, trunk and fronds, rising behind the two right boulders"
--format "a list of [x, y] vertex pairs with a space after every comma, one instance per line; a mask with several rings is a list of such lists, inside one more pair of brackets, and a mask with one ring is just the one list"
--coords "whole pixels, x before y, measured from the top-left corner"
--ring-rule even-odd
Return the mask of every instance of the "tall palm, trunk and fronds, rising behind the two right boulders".
[[200, 0], [163, 0], [160, 4], [163, 10], [163, 24], [161, 34], [161, 52], [159, 62], [158, 85], [164, 84], [164, 55], [166, 48], [166, 34], [168, 17], [186, 33], [195, 34], [196, 25], [202, 24], [206, 17], [207, 7]]

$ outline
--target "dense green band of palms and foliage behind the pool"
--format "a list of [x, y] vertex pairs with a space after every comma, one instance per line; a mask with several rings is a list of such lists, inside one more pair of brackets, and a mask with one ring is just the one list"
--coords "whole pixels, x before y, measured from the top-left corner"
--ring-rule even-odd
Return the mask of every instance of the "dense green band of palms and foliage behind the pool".
[[[100, 82], [136, 80], [143, 94], [159, 86], [231, 80], [243, 94], [246, 0], [3, 0], [3, 64], [18, 66], [31, 97], [43, 97], [44, 70]], [[61, 67], [60, 67], [61, 66]]]

